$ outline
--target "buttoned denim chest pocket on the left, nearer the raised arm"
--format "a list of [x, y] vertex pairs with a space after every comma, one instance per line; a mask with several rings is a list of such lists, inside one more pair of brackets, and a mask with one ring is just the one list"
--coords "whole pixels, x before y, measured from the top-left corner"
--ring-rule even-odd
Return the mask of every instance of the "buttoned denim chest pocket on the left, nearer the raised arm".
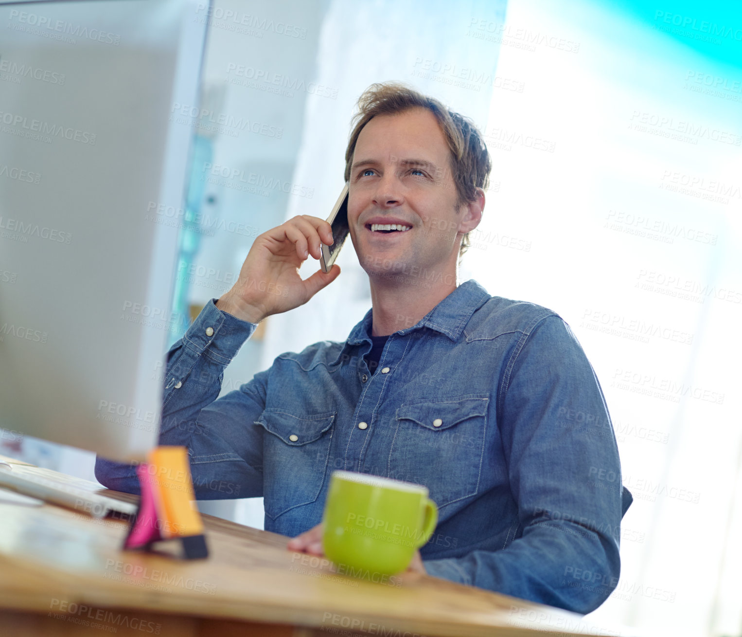
[[336, 411], [294, 416], [266, 409], [255, 421], [263, 436], [263, 506], [276, 517], [317, 500], [325, 480]]

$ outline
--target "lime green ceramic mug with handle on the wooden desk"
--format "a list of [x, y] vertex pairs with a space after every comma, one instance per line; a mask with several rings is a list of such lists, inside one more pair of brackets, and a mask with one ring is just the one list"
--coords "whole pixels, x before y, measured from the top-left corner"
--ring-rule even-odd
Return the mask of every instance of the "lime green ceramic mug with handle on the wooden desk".
[[395, 575], [410, 566], [436, 529], [438, 507], [427, 487], [332, 471], [325, 501], [325, 555], [349, 575]]

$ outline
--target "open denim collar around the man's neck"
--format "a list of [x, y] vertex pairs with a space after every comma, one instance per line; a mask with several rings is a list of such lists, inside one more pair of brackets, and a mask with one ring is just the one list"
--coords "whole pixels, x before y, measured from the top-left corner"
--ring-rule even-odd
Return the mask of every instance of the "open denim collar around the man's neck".
[[[456, 290], [453, 290], [436, 307], [433, 307], [433, 310], [430, 310], [417, 324], [412, 327], [406, 327], [404, 330], [398, 330], [395, 334], [404, 336], [413, 330], [428, 327], [456, 342], [459, 336], [461, 336], [464, 327], [469, 322], [471, 315], [476, 310], [479, 310], [488, 298], [490, 298], [490, 295], [487, 293], [487, 290], [474, 281], [473, 278], [470, 278], [468, 281], [464, 281], [464, 283], [459, 285]], [[338, 359], [331, 363], [331, 365], [335, 365], [341, 359], [341, 356], [343, 356], [348, 347], [371, 342], [372, 312], [373, 308], [350, 330], [348, 339], [338, 355]]]

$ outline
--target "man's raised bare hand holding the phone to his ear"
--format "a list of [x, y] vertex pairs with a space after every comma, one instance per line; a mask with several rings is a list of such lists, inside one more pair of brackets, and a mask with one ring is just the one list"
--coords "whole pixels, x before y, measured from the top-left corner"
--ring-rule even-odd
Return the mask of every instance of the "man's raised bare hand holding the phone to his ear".
[[217, 307], [243, 321], [258, 323], [272, 314], [288, 312], [309, 301], [340, 274], [318, 270], [302, 280], [301, 264], [321, 257], [321, 243], [332, 244], [332, 228], [324, 219], [298, 215], [259, 235], [240, 269], [240, 276]]

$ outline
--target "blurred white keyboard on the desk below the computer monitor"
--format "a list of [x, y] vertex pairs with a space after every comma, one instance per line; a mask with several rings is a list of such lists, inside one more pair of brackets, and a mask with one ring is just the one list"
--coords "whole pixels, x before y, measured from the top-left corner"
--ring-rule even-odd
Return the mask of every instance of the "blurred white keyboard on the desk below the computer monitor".
[[109, 512], [137, 513], [137, 504], [96, 493], [88, 480], [30, 465], [0, 462], [0, 487], [97, 518]]

